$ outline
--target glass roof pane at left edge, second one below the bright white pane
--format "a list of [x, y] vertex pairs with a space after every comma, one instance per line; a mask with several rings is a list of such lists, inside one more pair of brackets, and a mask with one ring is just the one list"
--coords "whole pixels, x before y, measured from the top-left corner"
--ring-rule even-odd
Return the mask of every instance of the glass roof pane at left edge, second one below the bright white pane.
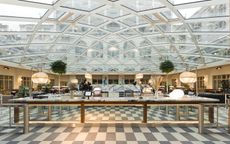
[[28, 34], [7, 34], [0, 35], [0, 45], [7, 44], [25, 44], [31, 35]]

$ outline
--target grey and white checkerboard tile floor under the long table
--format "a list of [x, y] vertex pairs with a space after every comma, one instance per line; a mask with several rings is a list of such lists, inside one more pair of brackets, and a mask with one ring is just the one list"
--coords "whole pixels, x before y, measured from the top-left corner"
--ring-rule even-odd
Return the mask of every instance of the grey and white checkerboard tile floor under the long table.
[[[149, 108], [148, 119], [172, 120], [173, 108], [166, 113], [164, 108]], [[63, 108], [60, 117], [59, 108], [52, 113], [53, 120], [80, 120], [79, 108]], [[220, 110], [219, 122], [226, 122], [226, 109]], [[6, 125], [7, 109], [0, 118]], [[183, 113], [183, 111], [181, 111]], [[192, 112], [190, 112], [192, 113]], [[38, 111], [31, 112], [31, 119], [37, 118]], [[157, 117], [157, 119], [156, 119]], [[45, 119], [45, 116], [38, 117]], [[196, 116], [189, 117], [195, 119]], [[3, 128], [0, 126], [0, 144], [229, 144], [230, 135], [226, 128], [206, 128], [205, 134], [199, 134], [196, 125], [153, 125], [153, 124], [96, 124], [94, 121], [142, 120], [140, 107], [87, 107], [86, 121], [90, 124], [75, 125], [31, 125], [28, 134], [22, 134], [22, 128]]]

